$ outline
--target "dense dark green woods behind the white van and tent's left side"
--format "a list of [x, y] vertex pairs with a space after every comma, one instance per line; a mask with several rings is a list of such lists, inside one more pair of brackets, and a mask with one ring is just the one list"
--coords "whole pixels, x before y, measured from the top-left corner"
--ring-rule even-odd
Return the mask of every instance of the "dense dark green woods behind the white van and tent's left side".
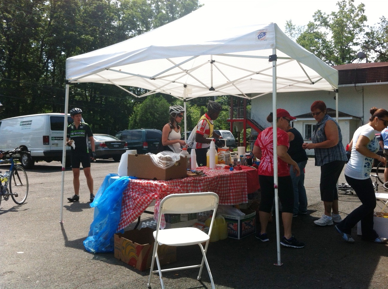
[[[194, 0], [0, 0], [2, 118], [64, 111], [66, 58], [137, 36], [197, 7]], [[112, 85], [70, 86], [69, 107], [80, 107], [95, 133], [127, 128], [133, 106], [142, 101]]]

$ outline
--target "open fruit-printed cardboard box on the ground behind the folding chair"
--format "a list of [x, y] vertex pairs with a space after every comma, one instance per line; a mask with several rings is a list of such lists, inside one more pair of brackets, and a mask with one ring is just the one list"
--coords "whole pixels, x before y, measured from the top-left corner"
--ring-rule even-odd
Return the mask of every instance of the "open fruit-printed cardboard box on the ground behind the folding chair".
[[[114, 234], [114, 257], [140, 271], [151, 268], [155, 243], [153, 231], [151, 228], [142, 228]], [[158, 256], [160, 265], [176, 262], [177, 247], [161, 245], [158, 248]]]

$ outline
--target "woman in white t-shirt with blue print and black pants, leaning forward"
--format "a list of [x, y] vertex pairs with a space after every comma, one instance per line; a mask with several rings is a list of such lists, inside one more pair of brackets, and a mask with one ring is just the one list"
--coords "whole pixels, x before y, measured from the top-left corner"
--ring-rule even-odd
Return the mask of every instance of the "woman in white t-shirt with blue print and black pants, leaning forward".
[[362, 239], [376, 243], [387, 243], [386, 238], [380, 238], [373, 229], [373, 213], [376, 207], [376, 196], [370, 178], [373, 159], [386, 164], [385, 158], [376, 154], [379, 142], [375, 130], [381, 131], [388, 125], [388, 111], [371, 108], [369, 123], [357, 128], [350, 141], [351, 156], [345, 168], [345, 179], [354, 189], [362, 205], [353, 210], [335, 227], [342, 238], [348, 243], [354, 243], [350, 236], [352, 228], [361, 221]]

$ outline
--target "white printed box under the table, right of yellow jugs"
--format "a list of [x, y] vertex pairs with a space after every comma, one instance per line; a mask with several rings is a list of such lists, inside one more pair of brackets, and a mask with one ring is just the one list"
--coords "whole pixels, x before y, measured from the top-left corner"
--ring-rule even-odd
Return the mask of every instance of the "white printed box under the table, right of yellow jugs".
[[233, 239], [241, 239], [251, 234], [256, 233], [256, 211], [244, 210], [244, 216], [233, 216], [221, 214], [228, 223], [228, 237]]

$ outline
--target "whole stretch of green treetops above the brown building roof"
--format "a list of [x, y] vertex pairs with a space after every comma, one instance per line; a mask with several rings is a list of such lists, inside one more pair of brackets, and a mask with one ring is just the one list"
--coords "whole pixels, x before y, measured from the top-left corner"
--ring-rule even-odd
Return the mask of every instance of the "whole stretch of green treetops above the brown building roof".
[[329, 65], [352, 63], [364, 51], [369, 62], [388, 61], [388, 23], [383, 16], [376, 27], [365, 24], [364, 4], [341, 0], [338, 11], [325, 14], [317, 10], [306, 26], [286, 22], [286, 34]]

